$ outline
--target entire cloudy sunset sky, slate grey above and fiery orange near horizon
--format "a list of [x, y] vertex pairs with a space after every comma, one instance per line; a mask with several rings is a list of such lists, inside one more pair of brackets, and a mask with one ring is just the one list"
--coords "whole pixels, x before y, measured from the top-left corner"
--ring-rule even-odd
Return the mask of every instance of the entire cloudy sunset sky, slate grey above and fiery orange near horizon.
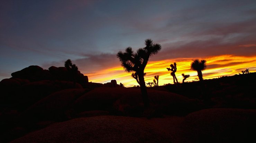
[[255, 0], [1, 0], [0, 80], [30, 65], [44, 69], [71, 59], [89, 81], [138, 85], [116, 54], [152, 39], [162, 50], [149, 59], [146, 83], [190, 74], [206, 59], [204, 79], [256, 72]]

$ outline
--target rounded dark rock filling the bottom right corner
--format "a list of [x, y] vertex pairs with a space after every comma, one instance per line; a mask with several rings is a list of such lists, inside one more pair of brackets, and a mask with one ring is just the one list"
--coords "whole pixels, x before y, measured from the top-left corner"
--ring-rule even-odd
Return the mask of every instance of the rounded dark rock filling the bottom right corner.
[[233, 143], [255, 140], [256, 110], [204, 109], [186, 115], [177, 134], [181, 143]]

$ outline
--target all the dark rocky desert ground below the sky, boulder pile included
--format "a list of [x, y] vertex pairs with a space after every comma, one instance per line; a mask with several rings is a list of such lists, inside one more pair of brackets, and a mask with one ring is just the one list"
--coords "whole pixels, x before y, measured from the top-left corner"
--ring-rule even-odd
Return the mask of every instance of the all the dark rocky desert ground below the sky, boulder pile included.
[[65, 67], [30, 66], [0, 82], [0, 142], [249, 142], [256, 134], [256, 73], [147, 88], [75, 85]]

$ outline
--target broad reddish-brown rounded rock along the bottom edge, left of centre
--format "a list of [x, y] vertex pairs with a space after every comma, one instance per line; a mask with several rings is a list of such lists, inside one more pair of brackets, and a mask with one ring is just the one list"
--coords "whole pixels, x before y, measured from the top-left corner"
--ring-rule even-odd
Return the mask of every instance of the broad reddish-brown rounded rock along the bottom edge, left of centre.
[[170, 143], [171, 136], [138, 118], [96, 116], [54, 123], [11, 143]]

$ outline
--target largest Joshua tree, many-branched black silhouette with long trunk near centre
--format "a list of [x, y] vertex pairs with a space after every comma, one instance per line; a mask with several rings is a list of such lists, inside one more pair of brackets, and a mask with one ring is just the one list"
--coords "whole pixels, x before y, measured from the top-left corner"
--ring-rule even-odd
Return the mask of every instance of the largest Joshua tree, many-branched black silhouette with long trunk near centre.
[[141, 95], [143, 98], [145, 108], [149, 107], [149, 99], [146, 89], [146, 84], [144, 80], [144, 69], [148, 63], [149, 57], [157, 54], [161, 50], [160, 44], [153, 44], [151, 39], [145, 40], [146, 47], [139, 48], [136, 53], [132, 51], [131, 47], [127, 47], [125, 52], [119, 51], [117, 57], [121, 62], [122, 67], [124, 67], [125, 72], [136, 72], [138, 76], [138, 84], [140, 85]]

